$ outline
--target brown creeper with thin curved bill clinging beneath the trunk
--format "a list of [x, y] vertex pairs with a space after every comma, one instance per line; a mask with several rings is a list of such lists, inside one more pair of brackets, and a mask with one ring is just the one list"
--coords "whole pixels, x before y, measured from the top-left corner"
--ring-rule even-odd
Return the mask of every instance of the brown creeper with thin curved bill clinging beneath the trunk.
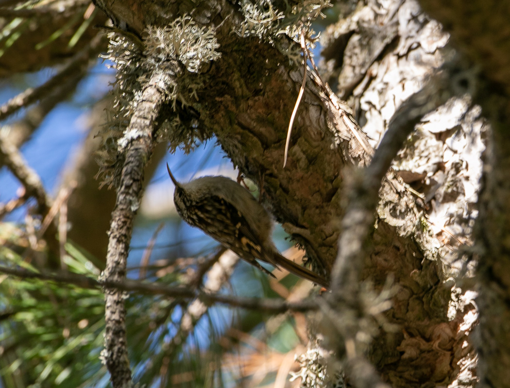
[[329, 288], [329, 282], [322, 276], [278, 253], [271, 237], [271, 216], [239, 183], [221, 176], [179, 183], [168, 163], [166, 168], [175, 185], [173, 201], [177, 213], [189, 225], [201, 229], [266, 273], [269, 272], [257, 260], [276, 268], [283, 267], [301, 278]]

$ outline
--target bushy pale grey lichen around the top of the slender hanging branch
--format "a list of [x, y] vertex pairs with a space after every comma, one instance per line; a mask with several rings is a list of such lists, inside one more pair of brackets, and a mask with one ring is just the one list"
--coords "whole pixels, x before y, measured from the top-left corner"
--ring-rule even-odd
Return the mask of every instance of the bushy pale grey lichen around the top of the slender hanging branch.
[[[162, 123], [164, 129], [157, 133], [158, 141], [169, 141], [173, 149], [177, 146], [190, 150], [196, 140], [207, 136], [196, 127], [181, 124], [177, 114], [177, 103], [192, 105], [198, 100], [198, 91], [203, 89], [207, 76], [200, 74], [203, 65], [220, 58], [215, 31], [198, 25], [190, 16], [175, 19], [164, 27], [149, 26], [142, 41], [133, 42], [119, 33], [110, 33], [108, 52], [103, 58], [111, 61], [108, 67], [117, 70], [113, 84], [112, 103], [106, 109], [107, 124], [100, 130], [100, 171], [103, 184], [112, 184], [114, 165], [122, 159], [125, 147], [138, 137], [134, 131], [126, 132], [133, 113], [137, 109], [142, 91], [153, 74], [171, 72], [172, 61], [177, 61], [187, 71], [182, 71], [178, 82], [164, 82], [165, 100], [175, 113], [175, 119]], [[171, 116], [171, 115], [170, 115]]]

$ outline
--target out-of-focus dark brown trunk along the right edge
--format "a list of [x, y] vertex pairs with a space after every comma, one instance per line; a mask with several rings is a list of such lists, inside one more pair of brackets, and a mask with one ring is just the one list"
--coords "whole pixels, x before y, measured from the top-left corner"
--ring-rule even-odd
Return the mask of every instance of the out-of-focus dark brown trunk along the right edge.
[[480, 386], [508, 385], [510, 368], [510, 40], [507, 2], [436, 2], [423, 6], [452, 34], [452, 41], [476, 65], [478, 91], [475, 101], [490, 119], [491, 134], [485, 155], [483, 190], [477, 220], [479, 252], [477, 281]]

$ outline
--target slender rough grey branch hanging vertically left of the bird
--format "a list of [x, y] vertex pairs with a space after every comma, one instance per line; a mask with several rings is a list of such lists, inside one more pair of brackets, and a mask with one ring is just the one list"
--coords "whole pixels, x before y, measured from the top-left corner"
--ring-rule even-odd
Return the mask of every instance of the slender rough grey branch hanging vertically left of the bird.
[[[166, 101], [167, 88], [176, 82], [180, 69], [173, 63], [164, 68], [156, 67], [147, 78], [138, 95], [136, 110], [124, 132], [126, 142], [117, 164], [124, 160], [117, 188], [117, 200], [112, 212], [109, 231], [106, 269], [101, 279], [106, 282], [120, 282], [125, 278], [127, 254], [133, 219], [140, 206], [143, 190], [145, 164], [156, 146], [156, 118]], [[173, 69], [173, 70], [172, 70]], [[127, 355], [125, 331], [125, 308], [122, 292], [116, 289], [105, 290], [105, 349], [106, 365], [111, 374], [114, 388], [131, 386], [131, 370]]]

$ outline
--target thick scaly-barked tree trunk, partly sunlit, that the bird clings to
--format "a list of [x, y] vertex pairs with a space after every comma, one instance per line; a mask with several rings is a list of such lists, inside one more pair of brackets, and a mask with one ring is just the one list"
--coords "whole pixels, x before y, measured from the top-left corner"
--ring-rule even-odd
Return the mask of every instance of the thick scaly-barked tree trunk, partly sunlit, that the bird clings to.
[[[315, 269], [326, 275], [337, 257], [339, 220], [354, 170], [369, 163], [369, 144], [378, 144], [397, 108], [449, 56], [441, 51], [448, 35], [416, 1], [359, 2], [324, 39], [324, 72], [348, 104], [330, 94], [317, 75], [308, 75], [283, 168], [303, 77], [302, 65], [292, 61], [298, 46], [288, 36], [245, 23], [246, 34], [240, 26], [247, 8], [230, 2], [96, 5], [144, 42], [147, 34], [185, 15], [214, 30], [221, 58], [190, 75], [191, 87], [179, 90], [158, 122], [168, 130], [178, 117], [188, 137], [192, 127], [202, 137], [214, 134], [239, 170], [259, 183], [276, 219], [304, 246]], [[147, 33], [148, 26], [156, 30]], [[448, 100], [417, 126], [398, 155], [401, 180], [385, 182], [379, 193], [361, 280], [380, 292], [388, 278], [395, 285], [386, 323], [367, 350], [382, 379], [393, 386], [473, 385], [467, 335], [475, 308], [472, 293], [457, 285], [466, 268], [455, 248], [470, 241], [483, 129], [469, 97]], [[168, 137], [173, 147], [182, 141], [173, 132]], [[323, 329], [324, 342], [333, 343], [338, 332]]]

